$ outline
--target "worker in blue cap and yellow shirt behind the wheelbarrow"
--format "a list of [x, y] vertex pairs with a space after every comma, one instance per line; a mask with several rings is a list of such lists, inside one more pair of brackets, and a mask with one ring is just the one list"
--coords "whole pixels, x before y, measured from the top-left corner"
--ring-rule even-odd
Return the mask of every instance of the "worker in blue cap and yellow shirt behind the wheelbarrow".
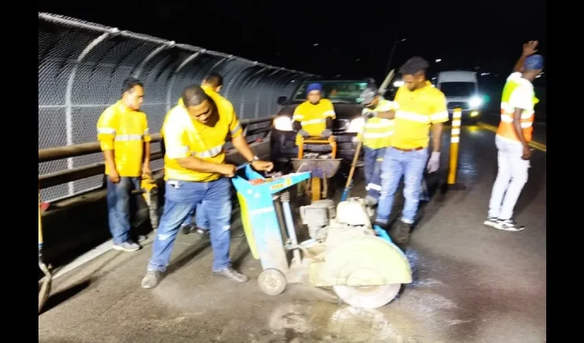
[[296, 144], [300, 143], [300, 137], [328, 139], [333, 134], [335, 108], [329, 99], [322, 98], [322, 84], [308, 84], [306, 98], [292, 115], [292, 128], [298, 132]]

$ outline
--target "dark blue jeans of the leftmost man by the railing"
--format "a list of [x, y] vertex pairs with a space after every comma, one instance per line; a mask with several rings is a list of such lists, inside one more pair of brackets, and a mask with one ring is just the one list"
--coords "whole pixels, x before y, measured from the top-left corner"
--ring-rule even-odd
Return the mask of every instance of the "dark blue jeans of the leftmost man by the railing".
[[121, 177], [120, 182], [113, 183], [106, 176], [107, 183], [107, 217], [109, 232], [113, 244], [123, 244], [130, 239], [130, 200], [131, 191], [140, 189], [140, 178]]

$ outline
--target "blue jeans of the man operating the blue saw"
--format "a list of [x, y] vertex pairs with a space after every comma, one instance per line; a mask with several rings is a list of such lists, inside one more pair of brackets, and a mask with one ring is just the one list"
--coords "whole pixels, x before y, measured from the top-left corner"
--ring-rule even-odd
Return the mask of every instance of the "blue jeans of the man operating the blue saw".
[[190, 218], [197, 204], [203, 204], [210, 219], [213, 271], [231, 266], [229, 229], [232, 204], [229, 178], [220, 178], [212, 182], [168, 180], [164, 213], [160, 218], [148, 270], [166, 271], [179, 228]]

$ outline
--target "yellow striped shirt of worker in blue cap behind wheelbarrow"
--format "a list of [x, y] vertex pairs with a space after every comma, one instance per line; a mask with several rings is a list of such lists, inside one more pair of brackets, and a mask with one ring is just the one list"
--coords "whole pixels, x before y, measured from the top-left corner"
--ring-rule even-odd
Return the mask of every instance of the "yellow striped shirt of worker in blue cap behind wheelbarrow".
[[[329, 99], [320, 99], [318, 104], [306, 101], [298, 105], [292, 115], [293, 121], [299, 121], [302, 130], [313, 137], [318, 137], [326, 129], [326, 118], [335, 119], [335, 107]], [[298, 144], [298, 137], [296, 144]]]

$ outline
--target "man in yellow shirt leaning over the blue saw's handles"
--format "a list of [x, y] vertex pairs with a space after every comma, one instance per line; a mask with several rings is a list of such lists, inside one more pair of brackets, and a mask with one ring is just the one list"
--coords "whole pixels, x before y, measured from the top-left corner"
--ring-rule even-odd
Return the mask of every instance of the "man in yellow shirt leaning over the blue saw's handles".
[[225, 163], [225, 142], [229, 139], [258, 171], [270, 171], [273, 163], [260, 161], [251, 152], [234, 108], [225, 98], [192, 85], [184, 89], [181, 99], [182, 103], [172, 108], [164, 121], [164, 213], [142, 287], [158, 285], [170, 263], [181, 224], [201, 202], [210, 223], [214, 274], [245, 282], [248, 277], [234, 270], [229, 259], [229, 178], [235, 175], [236, 166]]

